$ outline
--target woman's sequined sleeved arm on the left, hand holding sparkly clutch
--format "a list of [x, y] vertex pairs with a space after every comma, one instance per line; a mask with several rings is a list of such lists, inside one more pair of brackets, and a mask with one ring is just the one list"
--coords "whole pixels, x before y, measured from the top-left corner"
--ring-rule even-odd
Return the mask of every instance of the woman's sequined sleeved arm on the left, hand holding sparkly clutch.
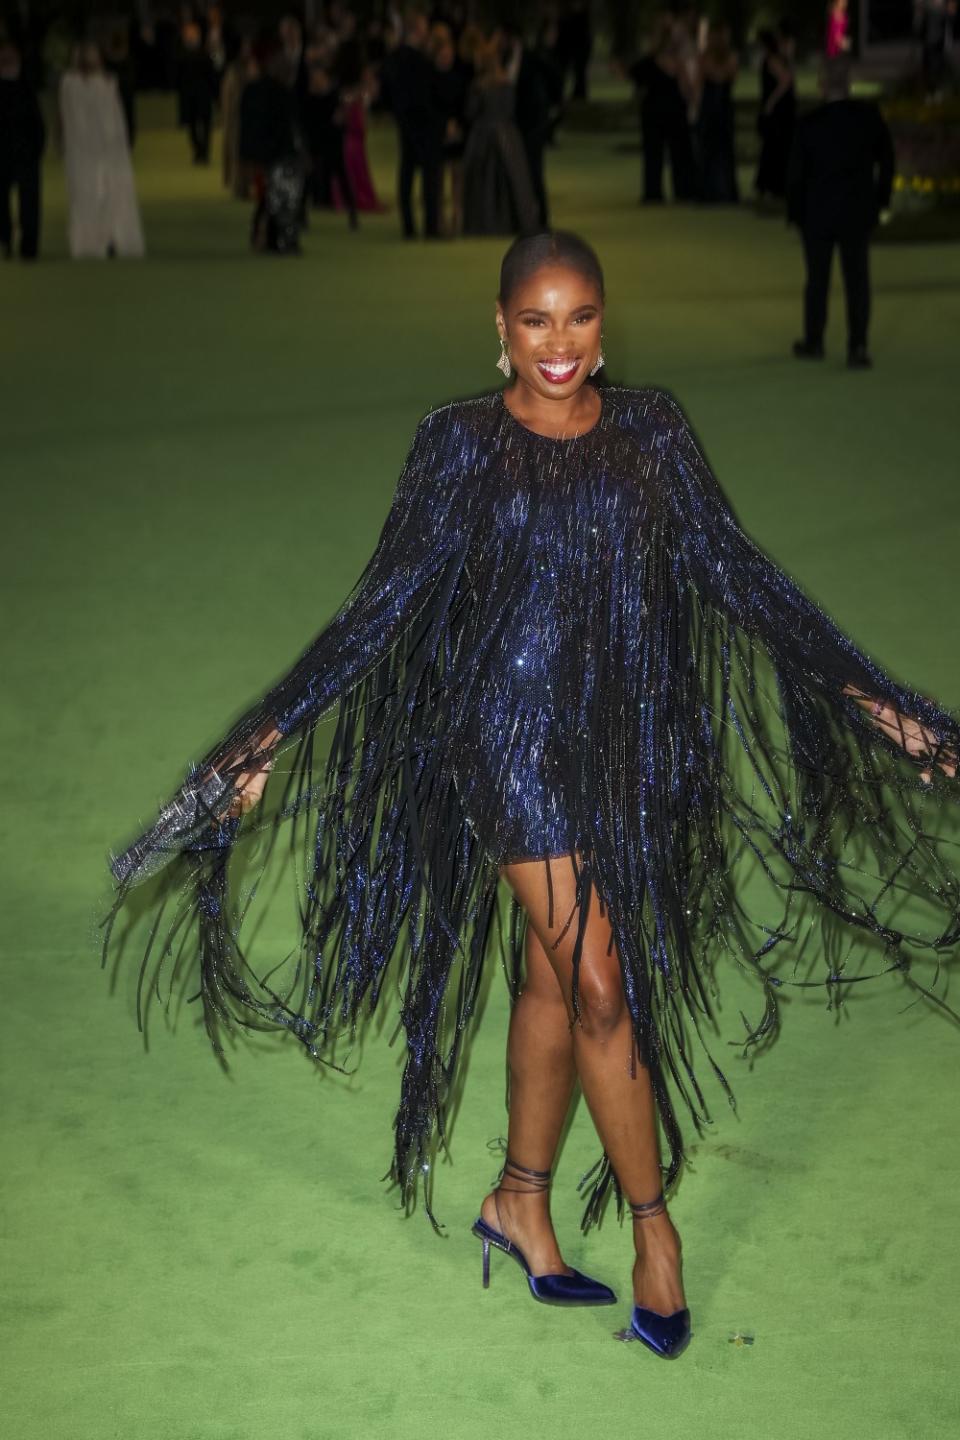
[[358, 684], [427, 602], [432, 582], [461, 543], [456, 467], [446, 444], [450, 409], [419, 423], [376, 549], [343, 606], [296, 664], [191, 766], [154, 825], [111, 858], [118, 883], [145, 878], [178, 851], [232, 844], [236, 822], [223, 816], [237, 779], [263, 768], [288, 737]]

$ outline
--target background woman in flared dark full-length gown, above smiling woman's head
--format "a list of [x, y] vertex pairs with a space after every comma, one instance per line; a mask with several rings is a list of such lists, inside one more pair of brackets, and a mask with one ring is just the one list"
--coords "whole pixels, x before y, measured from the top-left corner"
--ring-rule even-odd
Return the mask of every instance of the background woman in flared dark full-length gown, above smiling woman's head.
[[463, 233], [531, 235], [538, 206], [517, 128], [520, 53], [501, 30], [476, 52], [463, 151]]

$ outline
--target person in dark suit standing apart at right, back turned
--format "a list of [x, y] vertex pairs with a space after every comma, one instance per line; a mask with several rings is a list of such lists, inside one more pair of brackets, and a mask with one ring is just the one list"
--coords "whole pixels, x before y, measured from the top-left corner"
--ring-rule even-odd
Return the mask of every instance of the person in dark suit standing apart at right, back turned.
[[871, 364], [869, 235], [889, 206], [894, 143], [878, 107], [849, 98], [846, 60], [825, 66], [822, 92], [823, 104], [796, 127], [787, 176], [787, 219], [800, 228], [806, 258], [805, 333], [793, 354], [799, 360], [823, 357], [830, 266], [839, 249], [848, 364], [865, 370]]

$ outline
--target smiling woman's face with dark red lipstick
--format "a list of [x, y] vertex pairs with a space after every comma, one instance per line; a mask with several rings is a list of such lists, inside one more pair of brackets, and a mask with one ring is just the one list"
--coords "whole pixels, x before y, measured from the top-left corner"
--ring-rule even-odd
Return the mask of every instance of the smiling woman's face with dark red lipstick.
[[602, 320], [596, 281], [561, 262], [541, 266], [497, 305], [497, 331], [518, 384], [550, 399], [569, 399], [587, 379]]

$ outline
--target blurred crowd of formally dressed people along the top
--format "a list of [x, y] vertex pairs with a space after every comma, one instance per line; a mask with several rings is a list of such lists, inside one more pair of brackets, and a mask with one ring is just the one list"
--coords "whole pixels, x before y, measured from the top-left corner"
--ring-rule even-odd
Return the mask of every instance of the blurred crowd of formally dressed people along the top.
[[[931, 37], [924, 62], [931, 73], [954, 9], [954, 0], [917, 0], [918, 23]], [[528, 233], [548, 225], [545, 158], [564, 105], [587, 94], [589, 6], [544, 6], [528, 33], [468, 23], [462, 4], [403, 14], [387, 7], [363, 24], [338, 0], [311, 13], [322, 20], [305, 26], [288, 13], [243, 33], [217, 6], [186, 4], [176, 36], [140, 27], [134, 46], [132, 32], [114, 27], [99, 48], [73, 48], [58, 107], [72, 253], [142, 253], [130, 150], [144, 78], [176, 89], [197, 166], [212, 160], [219, 118], [223, 181], [252, 203], [256, 251], [296, 253], [314, 207], [341, 210], [351, 226], [387, 209], [367, 160], [370, 111], [389, 112], [396, 125], [396, 202], [406, 238]], [[851, 43], [849, 0], [828, 0], [828, 62], [845, 59]], [[757, 45], [754, 192], [763, 207], [782, 213], [797, 124], [792, 24], [760, 30]], [[688, 4], [653, 16], [639, 58], [619, 65], [639, 101], [645, 203], [664, 202], [666, 174], [674, 200], [740, 202], [734, 85], [741, 62], [730, 26], [707, 22]], [[39, 248], [45, 143], [32, 85], [17, 46], [0, 43], [0, 243], [12, 252], [10, 196], [19, 192], [27, 259]]]

